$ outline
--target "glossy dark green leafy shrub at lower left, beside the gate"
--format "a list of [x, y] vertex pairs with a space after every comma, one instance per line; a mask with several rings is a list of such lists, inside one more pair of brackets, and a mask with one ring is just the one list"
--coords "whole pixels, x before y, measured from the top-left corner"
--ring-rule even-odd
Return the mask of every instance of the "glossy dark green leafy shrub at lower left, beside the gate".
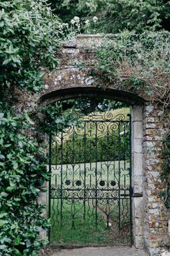
[[45, 155], [34, 137], [27, 114], [0, 113], [0, 255], [37, 255], [41, 229], [48, 221], [36, 202], [48, 179]]

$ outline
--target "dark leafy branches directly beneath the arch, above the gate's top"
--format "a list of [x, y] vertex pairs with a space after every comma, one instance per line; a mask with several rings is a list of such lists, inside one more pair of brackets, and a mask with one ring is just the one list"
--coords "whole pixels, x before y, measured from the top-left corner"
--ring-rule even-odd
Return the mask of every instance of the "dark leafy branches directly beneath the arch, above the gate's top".
[[[82, 116], [88, 115], [94, 111], [110, 111], [112, 109], [125, 107], [125, 103], [118, 101], [111, 101], [104, 98], [91, 98], [91, 97], [81, 97], [68, 101], [57, 101], [51, 103], [45, 108], [41, 107], [39, 109], [41, 114], [45, 114], [45, 123], [42, 122], [42, 131], [50, 132], [56, 131], [58, 124], [63, 125], [63, 127], [68, 127], [70, 125], [79, 124], [79, 119]], [[47, 124], [49, 124], [47, 126]]]

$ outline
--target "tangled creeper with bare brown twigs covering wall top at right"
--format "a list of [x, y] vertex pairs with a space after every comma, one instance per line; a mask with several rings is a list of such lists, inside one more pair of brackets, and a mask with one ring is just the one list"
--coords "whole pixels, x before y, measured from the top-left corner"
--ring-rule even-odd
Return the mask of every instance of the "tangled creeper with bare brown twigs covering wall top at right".
[[140, 35], [125, 31], [113, 35], [97, 51], [97, 72], [115, 85], [145, 91], [152, 100], [164, 98], [168, 103], [169, 43], [170, 33], [165, 31]]

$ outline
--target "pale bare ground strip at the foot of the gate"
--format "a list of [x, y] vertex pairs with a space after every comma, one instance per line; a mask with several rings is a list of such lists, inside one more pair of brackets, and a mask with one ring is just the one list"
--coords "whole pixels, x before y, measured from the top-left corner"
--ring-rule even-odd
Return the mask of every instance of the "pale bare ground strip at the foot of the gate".
[[85, 247], [61, 249], [53, 252], [53, 256], [148, 256], [148, 253], [135, 247]]

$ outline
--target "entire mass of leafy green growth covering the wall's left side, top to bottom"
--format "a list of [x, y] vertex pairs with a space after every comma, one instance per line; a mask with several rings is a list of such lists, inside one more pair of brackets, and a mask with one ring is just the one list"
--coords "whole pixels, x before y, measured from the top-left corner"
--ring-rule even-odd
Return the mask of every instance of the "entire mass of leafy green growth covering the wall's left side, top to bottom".
[[[14, 90], [40, 91], [41, 67], [56, 67], [55, 48], [62, 33], [44, 0], [0, 3], [0, 255], [35, 256], [48, 228], [36, 199], [48, 179], [44, 150], [30, 114], [17, 114]], [[8, 103], [8, 105], [6, 105]], [[19, 112], [19, 111], [18, 111]], [[28, 133], [32, 131], [32, 135]]]

